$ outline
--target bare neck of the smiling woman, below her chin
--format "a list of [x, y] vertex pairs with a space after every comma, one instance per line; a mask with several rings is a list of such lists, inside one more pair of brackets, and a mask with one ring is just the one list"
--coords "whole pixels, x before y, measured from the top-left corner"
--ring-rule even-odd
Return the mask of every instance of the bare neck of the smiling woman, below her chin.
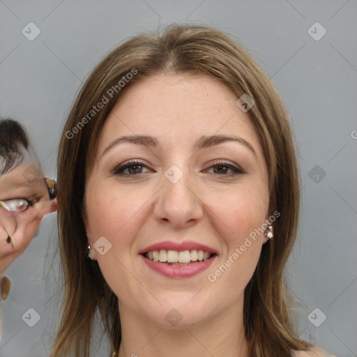
[[122, 306], [119, 357], [247, 357], [243, 298], [198, 324], [167, 328]]

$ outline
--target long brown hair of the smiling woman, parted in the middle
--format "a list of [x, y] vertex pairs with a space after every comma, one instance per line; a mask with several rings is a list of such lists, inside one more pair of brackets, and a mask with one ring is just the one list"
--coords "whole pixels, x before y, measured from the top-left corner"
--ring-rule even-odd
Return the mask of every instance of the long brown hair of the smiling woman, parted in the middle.
[[[50, 357], [89, 357], [97, 312], [113, 351], [119, 351], [118, 298], [98, 263], [84, 257], [85, 178], [93, 166], [102, 126], [116, 102], [135, 82], [160, 73], [206, 75], [225, 84], [237, 99], [246, 93], [255, 100], [248, 114], [268, 167], [269, 211], [281, 216], [274, 223], [273, 240], [262, 247], [244, 292], [249, 356], [288, 357], [291, 350], [307, 350], [310, 344], [300, 340], [293, 328], [291, 299], [284, 282], [284, 266], [296, 240], [300, 202], [287, 110], [264, 70], [234, 38], [211, 26], [171, 24], [154, 33], [132, 36], [107, 54], [86, 79], [63, 129], [58, 154], [58, 227], [65, 287]], [[123, 77], [130, 80], [121, 86]], [[100, 102], [106, 103], [97, 110]]]

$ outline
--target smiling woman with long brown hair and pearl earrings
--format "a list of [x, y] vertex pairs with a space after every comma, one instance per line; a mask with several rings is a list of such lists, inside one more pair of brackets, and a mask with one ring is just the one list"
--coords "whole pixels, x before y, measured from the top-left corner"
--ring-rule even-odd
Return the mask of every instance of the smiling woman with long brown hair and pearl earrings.
[[112, 356], [323, 356], [293, 330], [283, 280], [299, 211], [287, 112], [225, 33], [172, 25], [109, 53], [63, 128], [58, 174], [51, 357], [88, 357], [97, 311]]

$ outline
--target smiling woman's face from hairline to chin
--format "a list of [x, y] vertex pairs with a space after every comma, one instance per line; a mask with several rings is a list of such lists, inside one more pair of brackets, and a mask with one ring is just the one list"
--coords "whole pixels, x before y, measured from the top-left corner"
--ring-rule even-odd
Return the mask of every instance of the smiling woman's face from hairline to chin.
[[155, 75], [107, 117], [84, 220], [121, 315], [182, 326], [243, 311], [265, 242], [250, 234], [268, 218], [268, 174], [237, 99], [210, 77]]

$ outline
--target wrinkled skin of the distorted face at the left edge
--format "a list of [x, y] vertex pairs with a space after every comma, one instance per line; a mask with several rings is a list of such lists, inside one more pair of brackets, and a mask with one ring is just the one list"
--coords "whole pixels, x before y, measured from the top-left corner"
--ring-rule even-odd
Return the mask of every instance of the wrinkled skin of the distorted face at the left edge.
[[33, 205], [20, 212], [9, 212], [0, 206], [0, 276], [26, 250], [43, 217], [56, 211], [56, 199], [50, 200], [40, 167], [30, 155], [0, 176], [0, 200], [19, 198]]

